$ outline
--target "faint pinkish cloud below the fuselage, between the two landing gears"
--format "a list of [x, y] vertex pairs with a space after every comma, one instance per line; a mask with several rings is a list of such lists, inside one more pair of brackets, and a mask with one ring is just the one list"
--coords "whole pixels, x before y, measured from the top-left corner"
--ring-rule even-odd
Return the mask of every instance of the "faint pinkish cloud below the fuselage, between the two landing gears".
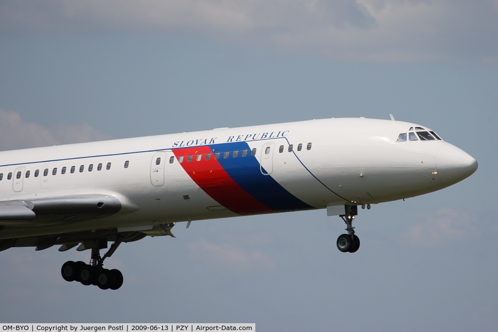
[[233, 272], [275, 270], [273, 259], [259, 250], [245, 251], [230, 243], [211, 243], [202, 237], [197, 242], [189, 243], [187, 247], [192, 260], [227, 268]]

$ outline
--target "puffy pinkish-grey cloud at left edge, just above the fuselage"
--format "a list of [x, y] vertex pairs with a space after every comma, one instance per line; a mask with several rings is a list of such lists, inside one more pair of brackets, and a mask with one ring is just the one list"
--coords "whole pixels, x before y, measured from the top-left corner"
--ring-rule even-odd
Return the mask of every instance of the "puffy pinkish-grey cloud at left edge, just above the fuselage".
[[17, 112], [0, 109], [0, 151], [110, 138], [87, 123], [74, 125], [60, 122], [45, 126], [24, 121]]

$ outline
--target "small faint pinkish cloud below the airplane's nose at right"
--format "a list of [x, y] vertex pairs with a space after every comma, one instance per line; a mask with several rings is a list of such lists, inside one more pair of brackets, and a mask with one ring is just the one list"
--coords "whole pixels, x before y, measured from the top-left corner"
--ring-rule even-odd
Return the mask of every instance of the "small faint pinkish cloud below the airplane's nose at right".
[[480, 236], [480, 232], [472, 221], [475, 220], [467, 213], [451, 209], [440, 209], [436, 216], [428, 216], [421, 222], [410, 226], [400, 239], [403, 243], [431, 248], [449, 242], [463, 241]]

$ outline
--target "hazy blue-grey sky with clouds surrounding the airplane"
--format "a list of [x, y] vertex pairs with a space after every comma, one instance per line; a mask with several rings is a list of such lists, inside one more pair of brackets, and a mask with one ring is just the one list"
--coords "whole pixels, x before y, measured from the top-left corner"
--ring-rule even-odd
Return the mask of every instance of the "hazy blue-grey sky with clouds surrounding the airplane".
[[498, 1], [0, 1], [0, 150], [299, 121], [418, 123], [468, 179], [360, 210], [177, 223], [89, 252], [0, 252], [1, 323], [255, 323], [258, 331], [498, 330]]

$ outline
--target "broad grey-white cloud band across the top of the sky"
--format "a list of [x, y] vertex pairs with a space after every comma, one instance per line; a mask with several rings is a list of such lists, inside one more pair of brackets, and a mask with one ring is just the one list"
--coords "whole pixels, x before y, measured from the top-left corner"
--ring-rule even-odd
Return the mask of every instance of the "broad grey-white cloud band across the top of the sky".
[[497, 62], [498, 1], [10, 0], [0, 31], [181, 32], [331, 59]]

